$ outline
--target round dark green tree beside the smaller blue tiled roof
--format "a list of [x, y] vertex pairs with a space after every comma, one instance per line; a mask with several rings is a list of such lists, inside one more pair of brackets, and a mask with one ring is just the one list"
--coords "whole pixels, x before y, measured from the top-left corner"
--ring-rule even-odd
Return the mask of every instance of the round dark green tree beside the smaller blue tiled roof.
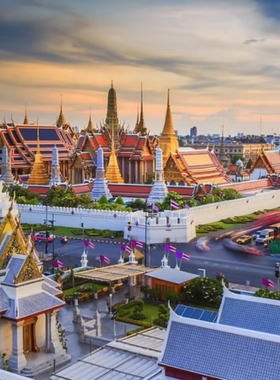
[[196, 305], [218, 306], [223, 295], [221, 281], [211, 277], [196, 277], [184, 285], [187, 299]]

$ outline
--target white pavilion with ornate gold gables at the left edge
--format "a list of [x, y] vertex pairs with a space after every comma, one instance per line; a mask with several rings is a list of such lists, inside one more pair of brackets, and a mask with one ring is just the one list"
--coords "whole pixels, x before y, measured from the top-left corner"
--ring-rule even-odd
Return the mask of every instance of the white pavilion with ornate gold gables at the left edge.
[[64, 302], [60, 285], [42, 274], [31, 238], [22, 231], [16, 204], [1, 193], [0, 354], [13, 372], [33, 377], [53, 360], [70, 360], [60, 341], [56, 315]]

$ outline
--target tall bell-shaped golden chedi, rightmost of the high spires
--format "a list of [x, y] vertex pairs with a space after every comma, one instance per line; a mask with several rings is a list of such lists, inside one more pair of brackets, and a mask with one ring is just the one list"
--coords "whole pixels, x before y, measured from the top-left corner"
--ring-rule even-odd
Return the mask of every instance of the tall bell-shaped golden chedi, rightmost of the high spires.
[[170, 153], [175, 153], [179, 149], [178, 137], [175, 134], [171, 108], [170, 108], [170, 91], [167, 94], [167, 109], [165, 115], [164, 127], [159, 137], [159, 147], [163, 153], [163, 166], [165, 165]]

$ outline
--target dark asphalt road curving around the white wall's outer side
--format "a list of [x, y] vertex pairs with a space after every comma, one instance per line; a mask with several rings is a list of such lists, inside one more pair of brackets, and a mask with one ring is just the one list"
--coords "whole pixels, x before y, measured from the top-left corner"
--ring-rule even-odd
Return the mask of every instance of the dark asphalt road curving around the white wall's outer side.
[[[275, 263], [279, 260], [271, 255], [252, 255], [246, 252], [230, 251], [222, 244], [222, 239], [216, 241], [211, 239], [208, 243], [209, 249], [203, 251], [197, 249], [195, 243], [178, 244], [177, 251], [186, 252], [191, 256], [190, 261], [183, 261], [181, 269], [192, 273], [197, 273], [198, 268], [206, 269], [206, 275], [215, 277], [217, 272], [222, 272], [230, 282], [245, 284], [250, 281], [251, 286], [261, 287], [262, 278], [274, 277]], [[45, 249], [45, 244], [38, 246], [38, 251], [42, 252]], [[59, 239], [56, 239], [54, 244], [55, 253], [59, 255], [59, 259], [65, 267], [80, 266], [81, 255], [84, 250], [83, 242], [80, 240], [69, 240], [68, 244], [61, 244]], [[143, 250], [144, 251], [144, 250]], [[52, 252], [52, 244], [49, 244], [49, 252]], [[88, 250], [89, 266], [99, 266], [99, 255], [108, 256], [111, 264], [117, 264], [120, 257], [120, 245], [95, 243], [95, 249]], [[157, 246], [155, 250], [151, 250], [150, 260], [147, 262], [152, 266], [159, 267], [161, 259], [164, 255], [164, 247]], [[169, 264], [171, 267], [176, 265], [176, 257], [174, 253], [169, 253]], [[51, 266], [52, 262], [45, 262], [45, 269]]]

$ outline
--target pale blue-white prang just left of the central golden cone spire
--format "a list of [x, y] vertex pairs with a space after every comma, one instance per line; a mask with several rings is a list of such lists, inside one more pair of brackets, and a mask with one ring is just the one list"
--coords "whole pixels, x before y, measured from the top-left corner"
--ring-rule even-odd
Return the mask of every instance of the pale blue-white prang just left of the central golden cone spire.
[[107, 199], [112, 198], [112, 194], [109, 191], [108, 183], [104, 175], [104, 154], [103, 149], [99, 147], [97, 149], [97, 169], [96, 178], [91, 191], [92, 199], [100, 199], [102, 195], [105, 195]]

